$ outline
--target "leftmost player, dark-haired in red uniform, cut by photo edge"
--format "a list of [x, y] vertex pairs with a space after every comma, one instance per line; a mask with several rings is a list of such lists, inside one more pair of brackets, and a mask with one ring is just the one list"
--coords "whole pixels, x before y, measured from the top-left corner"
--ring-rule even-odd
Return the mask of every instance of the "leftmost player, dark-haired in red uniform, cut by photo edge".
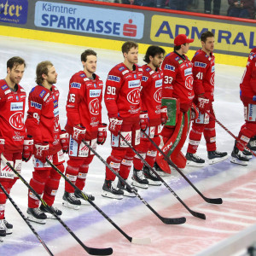
[[[0, 154], [21, 172], [22, 159], [28, 161], [32, 155], [32, 139], [26, 137], [24, 113], [26, 92], [20, 86], [26, 62], [20, 57], [7, 61], [7, 76], [0, 80]], [[18, 179], [15, 173], [1, 160], [0, 183], [10, 193]], [[4, 218], [6, 195], [0, 189], [0, 241], [12, 233], [13, 225]]]

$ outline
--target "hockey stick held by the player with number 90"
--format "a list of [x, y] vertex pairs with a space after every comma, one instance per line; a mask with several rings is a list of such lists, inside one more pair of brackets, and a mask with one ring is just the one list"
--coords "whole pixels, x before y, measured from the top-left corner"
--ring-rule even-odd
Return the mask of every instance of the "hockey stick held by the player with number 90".
[[154, 169], [153, 169], [151, 166], [148, 165], [148, 162], [143, 159], [143, 157], [137, 152], [137, 150], [136, 150], [135, 148], [133, 148], [133, 147], [131, 146], [131, 144], [126, 141], [125, 137], [124, 137], [122, 134], [120, 134], [120, 133], [119, 133], [119, 135], [120, 135], [120, 137], [122, 138], [122, 140], [127, 144], [127, 146], [128, 146], [129, 148], [131, 148], [131, 150], [132, 150], [135, 154], [137, 154], [137, 157], [138, 157], [140, 160], [143, 161], [143, 164], [146, 165], [146, 166], [148, 166], [149, 170], [150, 170], [151, 172], [153, 172], [154, 175], [155, 175], [156, 177], [158, 177], [162, 183], [165, 184], [166, 189], [168, 189], [168, 190], [172, 193], [172, 195], [174, 195], [174, 196], [177, 198], [177, 200], [182, 203], [183, 207], [185, 207], [185, 208], [186, 208], [193, 216], [195, 216], [196, 218], [206, 219], [206, 215], [205, 215], [204, 213], [201, 213], [201, 212], [194, 212], [194, 211], [192, 211], [191, 209], [189, 209], [189, 207], [178, 197], [178, 195], [170, 188], [170, 186], [168, 186], [168, 184], [162, 179], [162, 177], [160, 177], [159, 174], [158, 174], [157, 172], [155, 172]]

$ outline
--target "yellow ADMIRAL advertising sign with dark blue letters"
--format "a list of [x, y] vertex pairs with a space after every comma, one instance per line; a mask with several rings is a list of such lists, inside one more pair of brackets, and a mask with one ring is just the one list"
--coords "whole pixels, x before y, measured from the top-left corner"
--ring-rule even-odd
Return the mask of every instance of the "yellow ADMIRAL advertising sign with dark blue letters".
[[201, 47], [201, 33], [207, 30], [215, 34], [215, 49], [233, 53], [249, 53], [250, 49], [256, 47], [255, 25], [243, 26], [162, 15], [152, 17], [150, 38], [154, 42], [173, 44], [178, 34], [186, 34], [189, 38], [195, 38], [192, 46]]

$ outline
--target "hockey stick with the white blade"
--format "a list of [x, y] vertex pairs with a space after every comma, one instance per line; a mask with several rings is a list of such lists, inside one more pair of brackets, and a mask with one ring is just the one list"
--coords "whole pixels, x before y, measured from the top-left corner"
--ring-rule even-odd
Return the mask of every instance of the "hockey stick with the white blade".
[[47, 161], [47, 163], [48, 163], [50, 166], [52, 166], [52, 167], [55, 169], [56, 172], [58, 172], [58, 173], [61, 175], [61, 177], [63, 177], [63, 178], [67, 181], [67, 183], [69, 183], [69, 184], [73, 187], [73, 189], [75, 189], [75, 191], [76, 191], [77, 193], [79, 193], [79, 195], [82, 195], [82, 196], [84, 197], [84, 200], [89, 201], [90, 205], [93, 206], [93, 207], [95, 207], [96, 210], [97, 210], [98, 212], [100, 212], [100, 213], [102, 214], [102, 216], [108, 220], [109, 223], [113, 224], [113, 226], [114, 226], [117, 230], [119, 230], [119, 232], [120, 232], [122, 235], [124, 235], [129, 241], [131, 241], [132, 243], [136, 243], [136, 244], [148, 244], [148, 243], [151, 242], [151, 239], [150, 239], [150, 238], [133, 238], [133, 237], [131, 237], [131, 236], [128, 236], [128, 235], [125, 233], [124, 230], [121, 230], [121, 229], [119, 228], [119, 226], [118, 226], [117, 224], [115, 224], [115, 223], [113, 222], [113, 220], [112, 220], [111, 218], [109, 218], [108, 215], [107, 215], [105, 212], [102, 211], [102, 209], [100, 209], [99, 207], [97, 207], [96, 204], [95, 204], [93, 201], [91, 201], [90, 198], [88, 198], [88, 196], [85, 195], [82, 190], [80, 190], [75, 184], [73, 184], [73, 183], [72, 183], [72, 182], [71, 182], [54, 164], [53, 164], [53, 163], [51, 163], [48, 159], [46, 159], [46, 161]]

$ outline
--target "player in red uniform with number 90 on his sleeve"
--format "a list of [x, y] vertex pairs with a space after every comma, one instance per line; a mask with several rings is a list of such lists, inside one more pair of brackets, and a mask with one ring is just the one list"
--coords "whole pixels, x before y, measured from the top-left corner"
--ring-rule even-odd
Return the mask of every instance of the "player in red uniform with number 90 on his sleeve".
[[[140, 128], [143, 130], [147, 128], [148, 114], [140, 114], [143, 69], [137, 66], [137, 43], [125, 42], [122, 45], [122, 53], [125, 61], [113, 67], [108, 73], [104, 100], [108, 110], [108, 130], [112, 133], [112, 152], [107, 162], [126, 180], [131, 170], [134, 153], [119, 137], [119, 132], [136, 147], [140, 143]], [[115, 199], [122, 199], [123, 195], [135, 196], [120, 180], [117, 188], [113, 186], [114, 179], [115, 175], [106, 167], [103, 196]]]

